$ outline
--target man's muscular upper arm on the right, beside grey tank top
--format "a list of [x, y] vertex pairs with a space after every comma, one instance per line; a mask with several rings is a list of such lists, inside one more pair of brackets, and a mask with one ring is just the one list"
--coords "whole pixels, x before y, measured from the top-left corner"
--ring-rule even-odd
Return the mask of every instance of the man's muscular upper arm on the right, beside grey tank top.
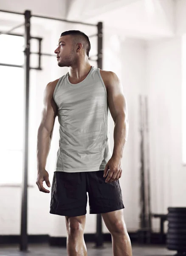
[[107, 83], [107, 99], [114, 121], [119, 115], [127, 115], [127, 101], [124, 97], [121, 81], [115, 73], [110, 75], [110, 80]]

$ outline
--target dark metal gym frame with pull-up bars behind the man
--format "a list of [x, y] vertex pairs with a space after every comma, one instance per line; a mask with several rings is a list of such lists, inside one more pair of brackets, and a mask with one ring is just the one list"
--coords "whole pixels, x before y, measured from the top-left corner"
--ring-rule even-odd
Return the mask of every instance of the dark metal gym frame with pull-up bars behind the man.
[[[47, 16], [40, 16], [40, 15], [31, 15], [31, 11], [26, 10], [24, 13], [21, 12], [10, 12], [6, 10], [0, 10], [0, 12], [6, 12], [6, 13], [12, 13], [17, 15], [24, 15], [25, 17], [25, 23], [22, 23], [11, 30], [7, 32], [0, 32], [0, 35], [7, 34], [7, 35], [17, 35], [17, 36], [24, 36], [25, 38], [25, 50], [24, 50], [24, 65], [12, 65], [12, 64], [3, 64], [0, 63], [0, 66], [9, 66], [9, 67], [23, 67], [24, 68], [24, 88], [25, 88], [25, 102], [24, 102], [24, 115], [25, 115], [25, 127], [24, 127], [24, 157], [23, 157], [23, 182], [22, 182], [22, 206], [21, 206], [21, 234], [20, 234], [20, 250], [21, 251], [27, 251], [28, 250], [28, 234], [27, 234], [27, 201], [28, 201], [28, 113], [29, 113], [29, 84], [30, 84], [30, 69], [33, 69], [30, 67], [30, 55], [38, 54], [39, 55], [39, 67], [34, 68], [37, 70], [41, 70], [40, 62], [41, 62], [41, 55], [47, 55], [47, 56], [53, 56], [51, 54], [45, 54], [41, 52], [41, 40], [42, 38], [35, 38], [31, 37], [30, 34], [30, 27], [31, 27], [31, 17], [39, 17], [43, 19], [49, 19], [49, 20], [57, 20], [57, 21], [63, 21], [68, 23], [76, 23], [76, 24], [82, 24], [87, 26], [95, 26], [97, 27], [97, 34], [96, 35], [90, 35], [89, 38], [97, 36], [97, 67], [102, 69], [102, 47], [103, 47], [103, 31], [102, 31], [102, 22], [99, 22], [98, 24], [90, 24], [90, 23], [83, 23], [79, 21], [70, 21], [70, 20], [64, 20], [64, 19], [58, 19], [54, 17], [47, 17]], [[24, 35], [19, 34], [11, 34], [11, 32], [14, 29], [19, 28], [20, 26], [25, 27]], [[31, 39], [38, 39], [39, 42], [39, 52], [31, 52], [30, 51], [30, 41]], [[91, 60], [91, 58], [90, 58]], [[101, 214], [97, 214], [96, 216], [96, 244], [95, 247], [102, 247], [103, 246], [103, 233], [102, 233], [102, 218]]]

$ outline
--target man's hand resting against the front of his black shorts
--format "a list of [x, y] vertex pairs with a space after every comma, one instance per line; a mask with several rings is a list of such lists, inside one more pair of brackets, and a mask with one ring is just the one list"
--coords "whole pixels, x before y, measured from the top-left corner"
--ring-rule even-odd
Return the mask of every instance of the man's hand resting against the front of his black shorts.
[[[107, 176], [108, 173], [108, 176]], [[105, 182], [111, 183], [115, 180], [121, 178], [122, 167], [121, 167], [121, 158], [120, 157], [111, 157], [104, 169], [103, 177], [106, 177]]]

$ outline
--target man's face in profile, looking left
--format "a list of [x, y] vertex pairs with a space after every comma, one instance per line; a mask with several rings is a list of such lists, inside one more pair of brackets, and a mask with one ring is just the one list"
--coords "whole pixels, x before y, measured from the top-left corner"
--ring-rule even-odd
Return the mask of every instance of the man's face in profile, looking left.
[[58, 47], [55, 50], [58, 66], [70, 67], [75, 61], [75, 48], [70, 35], [65, 35], [59, 38]]

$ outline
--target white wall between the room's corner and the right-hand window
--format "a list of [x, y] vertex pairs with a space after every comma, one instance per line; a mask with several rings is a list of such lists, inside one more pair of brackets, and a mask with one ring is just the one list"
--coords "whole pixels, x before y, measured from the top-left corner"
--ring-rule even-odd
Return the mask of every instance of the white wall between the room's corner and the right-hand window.
[[186, 206], [182, 165], [181, 38], [151, 42], [147, 51], [152, 211]]

